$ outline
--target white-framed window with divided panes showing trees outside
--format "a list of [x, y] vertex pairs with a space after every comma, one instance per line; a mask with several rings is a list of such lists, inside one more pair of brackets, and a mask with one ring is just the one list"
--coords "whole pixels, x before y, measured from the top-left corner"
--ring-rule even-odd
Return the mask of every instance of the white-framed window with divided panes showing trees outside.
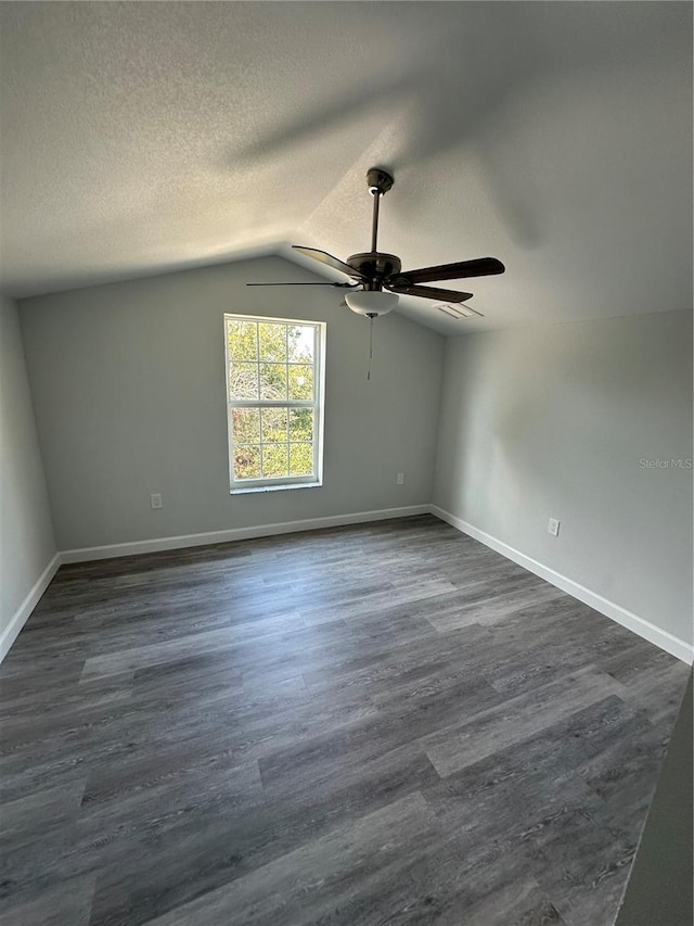
[[232, 492], [320, 485], [325, 325], [224, 315]]

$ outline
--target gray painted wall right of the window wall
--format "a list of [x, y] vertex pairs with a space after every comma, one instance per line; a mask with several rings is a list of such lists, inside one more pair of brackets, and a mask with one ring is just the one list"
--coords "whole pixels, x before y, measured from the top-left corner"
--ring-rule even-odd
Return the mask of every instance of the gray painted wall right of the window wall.
[[447, 343], [435, 504], [685, 642], [691, 457], [689, 312]]

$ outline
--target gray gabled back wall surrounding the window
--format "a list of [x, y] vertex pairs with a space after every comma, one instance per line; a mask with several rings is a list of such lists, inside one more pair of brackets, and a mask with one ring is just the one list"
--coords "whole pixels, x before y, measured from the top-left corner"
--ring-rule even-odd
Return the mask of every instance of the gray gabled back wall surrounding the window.
[[[307, 279], [264, 258], [21, 303], [60, 549], [430, 500], [444, 339], [378, 319], [368, 381], [369, 321], [339, 290], [244, 286]], [[224, 312], [327, 322], [322, 487], [229, 495]]]

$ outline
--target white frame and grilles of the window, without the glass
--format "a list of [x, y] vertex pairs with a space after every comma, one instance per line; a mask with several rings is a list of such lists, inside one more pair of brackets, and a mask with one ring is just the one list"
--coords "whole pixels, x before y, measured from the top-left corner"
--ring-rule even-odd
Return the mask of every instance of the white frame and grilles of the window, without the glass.
[[[313, 356], [313, 399], [266, 399], [266, 398], [232, 398], [230, 390], [230, 372], [233, 359], [229, 352], [229, 321], [253, 321], [255, 325], [270, 322], [274, 325], [300, 325], [314, 329]], [[242, 495], [250, 492], [273, 492], [285, 489], [311, 489], [323, 484], [323, 424], [325, 410], [325, 341], [326, 324], [298, 318], [278, 318], [266, 315], [244, 315], [226, 312], [224, 325], [224, 380], [227, 393], [227, 452], [229, 455], [229, 493]], [[256, 329], [257, 331], [259, 329]], [[239, 360], [239, 358], [235, 358]], [[249, 363], [248, 360], [242, 363]], [[253, 361], [258, 366], [262, 363], [258, 355]], [[291, 366], [291, 361], [286, 361]], [[232, 409], [234, 408], [312, 408], [313, 409], [313, 472], [310, 475], [280, 475], [260, 479], [236, 479], [234, 475], [234, 437], [232, 427]], [[261, 453], [264, 442], [258, 441]]]

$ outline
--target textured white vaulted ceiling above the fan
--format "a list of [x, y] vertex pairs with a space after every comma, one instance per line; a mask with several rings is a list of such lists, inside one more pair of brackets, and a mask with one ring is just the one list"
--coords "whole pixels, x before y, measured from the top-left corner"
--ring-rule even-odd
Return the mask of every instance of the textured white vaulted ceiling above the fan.
[[[496, 256], [445, 332], [692, 306], [692, 5], [0, 3], [4, 292]], [[307, 276], [307, 278], [310, 278]], [[454, 286], [454, 284], [448, 284]], [[335, 291], [336, 299], [339, 297]]]

